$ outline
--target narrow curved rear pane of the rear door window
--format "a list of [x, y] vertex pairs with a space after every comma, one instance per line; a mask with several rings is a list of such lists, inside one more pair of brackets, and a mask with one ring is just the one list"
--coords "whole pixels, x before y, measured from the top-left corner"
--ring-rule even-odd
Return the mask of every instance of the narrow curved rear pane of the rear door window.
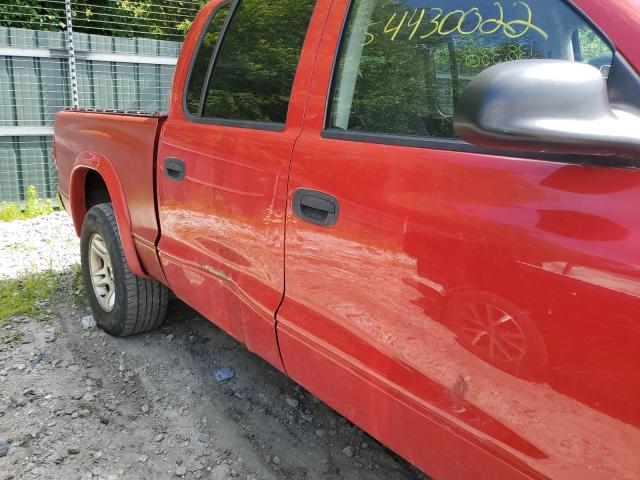
[[209, 68], [209, 62], [215, 50], [216, 44], [222, 31], [229, 12], [231, 11], [231, 5], [227, 4], [222, 6], [216, 14], [214, 14], [209, 27], [200, 43], [198, 53], [193, 62], [193, 68], [191, 69], [191, 75], [189, 76], [189, 86], [187, 87], [186, 105], [187, 111], [194, 116], [200, 113], [200, 97], [202, 95], [202, 87], [204, 86], [205, 78], [207, 76], [207, 69]]

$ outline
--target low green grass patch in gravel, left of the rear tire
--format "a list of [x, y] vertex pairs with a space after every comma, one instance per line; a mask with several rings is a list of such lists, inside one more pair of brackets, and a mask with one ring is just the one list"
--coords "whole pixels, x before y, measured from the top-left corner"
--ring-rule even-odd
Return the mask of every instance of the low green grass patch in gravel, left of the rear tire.
[[60, 277], [52, 270], [0, 281], [0, 325], [17, 315], [46, 314], [42, 305], [59, 289]]

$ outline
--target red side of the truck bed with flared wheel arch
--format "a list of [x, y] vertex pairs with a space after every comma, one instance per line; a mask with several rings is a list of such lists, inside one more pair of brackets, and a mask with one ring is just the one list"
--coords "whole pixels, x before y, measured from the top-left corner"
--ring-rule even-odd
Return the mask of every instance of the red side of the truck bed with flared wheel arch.
[[[164, 120], [161, 114], [67, 110], [55, 122], [54, 157], [64, 207], [74, 219], [83, 218], [101, 200], [85, 198], [87, 182], [104, 181], [116, 213], [121, 210], [119, 228], [130, 229], [142, 273], [152, 276], [161, 275], [155, 252], [155, 155]], [[75, 224], [79, 234], [81, 222]]]

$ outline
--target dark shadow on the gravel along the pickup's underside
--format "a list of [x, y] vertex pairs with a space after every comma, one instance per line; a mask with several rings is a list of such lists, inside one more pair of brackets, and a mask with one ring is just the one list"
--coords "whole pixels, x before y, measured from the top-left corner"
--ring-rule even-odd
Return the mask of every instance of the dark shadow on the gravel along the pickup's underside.
[[[373, 479], [428, 479], [175, 297], [167, 318], [158, 332], [119, 341], [149, 343], [170, 361], [162, 383], [185, 386], [192, 416], [208, 419], [218, 447], [251, 452], [275, 478], [360, 479], [366, 471]], [[217, 381], [220, 369], [233, 377]]]

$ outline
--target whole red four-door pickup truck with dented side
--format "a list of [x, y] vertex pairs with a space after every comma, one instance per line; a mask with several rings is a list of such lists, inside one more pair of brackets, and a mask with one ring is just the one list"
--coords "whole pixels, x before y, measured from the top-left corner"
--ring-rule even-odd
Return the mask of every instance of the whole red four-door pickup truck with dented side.
[[437, 479], [640, 478], [636, 0], [214, 0], [65, 111], [99, 325], [169, 289]]

